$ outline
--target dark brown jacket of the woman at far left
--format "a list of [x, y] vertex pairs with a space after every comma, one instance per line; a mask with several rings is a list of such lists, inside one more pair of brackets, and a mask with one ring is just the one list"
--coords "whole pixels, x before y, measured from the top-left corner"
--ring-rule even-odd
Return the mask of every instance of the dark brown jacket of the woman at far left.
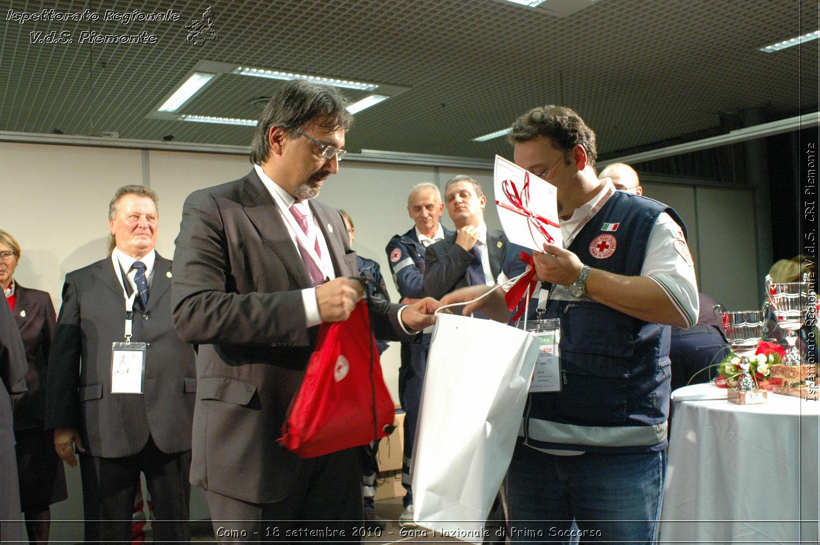
[[20, 328], [29, 369], [25, 381], [29, 391], [14, 407], [14, 429], [43, 429], [46, 405], [46, 370], [48, 351], [54, 336], [57, 314], [51, 296], [39, 289], [24, 288], [16, 283], [17, 302], [14, 319]]

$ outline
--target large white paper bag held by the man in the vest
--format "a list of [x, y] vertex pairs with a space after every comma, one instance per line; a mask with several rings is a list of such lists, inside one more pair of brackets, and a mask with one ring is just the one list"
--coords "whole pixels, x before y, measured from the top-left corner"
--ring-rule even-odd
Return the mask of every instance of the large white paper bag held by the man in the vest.
[[412, 453], [413, 517], [481, 543], [515, 447], [539, 339], [492, 320], [436, 318]]

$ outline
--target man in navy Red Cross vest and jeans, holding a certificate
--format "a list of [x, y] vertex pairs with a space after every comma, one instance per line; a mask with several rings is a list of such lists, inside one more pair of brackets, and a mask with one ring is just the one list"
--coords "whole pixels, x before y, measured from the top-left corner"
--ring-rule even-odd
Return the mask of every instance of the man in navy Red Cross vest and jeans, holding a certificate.
[[[687, 328], [698, 317], [683, 221], [599, 180], [594, 132], [569, 108], [527, 112], [510, 140], [516, 164], [558, 188], [564, 245], [534, 254], [546, 317], [561, 320], [563, 384], [527, 400], [508, 472], [512, 541], [652, 543], [666, 469], [668, 326]], [[508, 278], [523, 270], [520, 261], [503, 267]], [[442, 302], [487, 289], [471, 286]], [[498, 293], [482, 310], [506, 321]]]

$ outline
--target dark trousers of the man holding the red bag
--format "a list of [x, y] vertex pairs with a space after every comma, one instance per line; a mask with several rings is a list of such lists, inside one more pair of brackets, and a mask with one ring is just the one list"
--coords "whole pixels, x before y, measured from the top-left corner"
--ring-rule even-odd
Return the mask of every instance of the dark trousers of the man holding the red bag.
[[280, 502], [243, 502], [210, 490], [205, 497], [221, 543], [358, 543], [364, 517], [361, 447], [303, 460], [293, 490]]

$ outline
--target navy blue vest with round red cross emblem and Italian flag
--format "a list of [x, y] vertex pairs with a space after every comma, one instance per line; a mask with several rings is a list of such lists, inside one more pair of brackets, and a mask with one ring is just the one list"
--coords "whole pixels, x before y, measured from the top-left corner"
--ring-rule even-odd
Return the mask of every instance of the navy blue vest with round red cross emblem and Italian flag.
[[[568, 249], [595, 269], [640, 275], [649, 234], [663, 211], [685, 232], [680, 216], [666, 205], [616, 191]], [[666, 447], [669, 327], [588, 298], [550, 300], [546, 317], [561, 319], [563, 389], [530, 394], [526, 443], [585, 452]]]

